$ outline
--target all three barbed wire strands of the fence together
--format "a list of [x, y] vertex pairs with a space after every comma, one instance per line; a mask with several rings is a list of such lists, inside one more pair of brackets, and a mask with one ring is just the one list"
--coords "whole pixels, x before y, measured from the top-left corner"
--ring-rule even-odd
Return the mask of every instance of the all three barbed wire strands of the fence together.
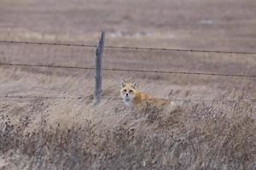
[[[103, 32], [102, 32], [103, 33]], [[84, 47], [84, 48], [99, 48], [99, 45], [93, 44], [74, 44], [74, 43], [60, 43], [60, 42], [25, 42], [25, 41], [1, 41], [1, 44], [24, 44], [24, 45], [48, 45], [48, 46], [67, 46], [67, 47]], [[101, 47], [102, 48], [102, 47]], [[154, 50], [154, 51], [177, 51], [177, 52], [189, 52], [189, 53], [214, 53], [214, 54], [243, 54], [243, 55], [255, 55], [256, 52], [241, 52], [241, 51], [221, 51], [221, 50], [205, 50], [205, 49], [183, 49], [183, 48], [143, 48], [143, 47], [127, 47], [127, 46], [103, 46], [103, 48], [117, 48], [117, 49], [131, 49], [131, 50]], [[102, 61], [101, 61], [102, 62]], [[215, 72], [189, 72], [189, 71], [157, 71], [157, 70], [137, 70], [137, 69], [119, 69], [119, 68], [98, 68], [96, 67], [81, 67], [73, 65], [47, 65], [47, 64], [33, 64], [33, 63], [7, 63], [0, 62], [0, 65], [7, 66], [26, 66], [26, 67], [48, 67], [48, 68], [61, 68], [61, 69], [79, 69], [79, 70], [96, 70], [102, 69], [103, 71], [126, 71], [126, 72], [145, 72], [145, 73], [162, 73], [162, 74], [182, 74], [182, 75], [201, 75], [201, 76], [215, 76], [215, 77], [245, 77], [255, 78], [256, 75], [247, 74], [227, 74], [227, 73], [215, 73]], [[102, 82], [99, 82], [102, 83]], [[101, 85], [102, 86], [102, 85]], [[102, 89], [98, 89], [97, 93], [102, 96]], [[89, 97], [83, 96], [31, 96], [31, 95], [0, 95], [0, 98], [4, 99], [88, 99]], [[111, 100], [121, 100], [119, 98], [102, 98]], [[254, 99], [247, 100], [224, 100], [224, 99], [160, 99], [160, 100], [174, 100], [183, 102], [250, 102], [254, 103]], [[97, 102], [96, 102], [97, 103]]]

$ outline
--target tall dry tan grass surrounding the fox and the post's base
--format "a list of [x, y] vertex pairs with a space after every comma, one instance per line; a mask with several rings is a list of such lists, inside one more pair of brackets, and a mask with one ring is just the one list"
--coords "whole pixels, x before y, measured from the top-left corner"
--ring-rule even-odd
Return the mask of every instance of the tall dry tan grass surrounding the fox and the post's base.
[[[6, 71], [9, 70], [3, 72]], [[225, 101], [245, 98], [245, 94], [227, 90], [215, 96], [220, 102], [184, 102], [179, 104], [181, 110], [172, 114], [150, 105], [134, 111], [121, 100], [103, 100], [94, 107], [90, 98], [92, 78], [84, 84], [86, 77], [92, 77], [90, 72], [73, 73], [80, 74], [74, 77], [37, 72], [24, 75], [25, 72], [11, 70], [5, 77], [16, 80], [5, 82], [2, 88], [23, 95], [79, 96], [85, 89], [90, 94], [84, 100], [2, 99], [3, 169], [16, 169], [20, 165], [22, 169], [255, 167], [255, 105]], [[104, 97], [116, 97], [119, 83], [108, 81], [104, 82]], [[170, 89], [166, 87], [151, 84], [147, 89], [159, 90], [161, 95]], [[196, 87], [171, 88], [173, 98], [185, 99], [196, 99], [209, 91]]]

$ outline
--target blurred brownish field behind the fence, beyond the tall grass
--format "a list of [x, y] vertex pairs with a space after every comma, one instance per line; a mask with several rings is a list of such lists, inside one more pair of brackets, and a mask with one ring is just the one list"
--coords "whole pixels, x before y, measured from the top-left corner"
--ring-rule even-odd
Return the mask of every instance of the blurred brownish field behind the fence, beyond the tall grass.
[[[94, 45], [104, 30], [105, 45], [255, 52], [256, 2], [253, 0], [2, 0], [0, 3], [1, 40]], [[1, 43], [0, 61], [93, 67], [94, 54], [95, 48]], [[255, 65], [255, 54], [106, 48], [103, 57], [104, 68], [119, 69], [255, 75]], [[242, 82], [248, 92], [255, 93], [253, 78], [228, 77], [228, 81], [222, 81], [227, 77], [109, 71], [104, 74], [106, 81], [116, 76], [118, 81], [135, 78], [142, 79], [142, 83], [158, 80], [177, 86], [210, 84], [207, 88], [221, 91], [226, 87], [241, 88]]]

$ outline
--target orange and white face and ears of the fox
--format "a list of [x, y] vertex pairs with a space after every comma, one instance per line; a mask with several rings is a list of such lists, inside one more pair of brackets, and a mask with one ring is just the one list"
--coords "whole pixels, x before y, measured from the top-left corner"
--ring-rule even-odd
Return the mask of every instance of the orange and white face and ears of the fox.
[[131, 100], [135, 98], [137, 92], [136, 86], [137, 82], [125, 82], [124, 80], [122, 81], [120, 94], [126, 105], [129, 105]]

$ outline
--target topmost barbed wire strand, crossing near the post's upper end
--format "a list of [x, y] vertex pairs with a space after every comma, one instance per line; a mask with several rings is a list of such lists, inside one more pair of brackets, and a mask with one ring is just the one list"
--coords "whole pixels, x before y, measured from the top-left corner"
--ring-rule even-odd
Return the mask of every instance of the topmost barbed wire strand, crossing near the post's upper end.
[[[60, 43], [60, 42], [21, 42], [21, 41], [0, 41], [0, 43], [17, 43], [17, 44], [32, 44], [32, 45], [49, 45], [49, 46], [70, 46], [70, 47], [87, 47], [96, 48], [93, 44], [74, 44], [74, 43]], [[155, 50], [155, 51], [177, 51], [177, 52], [191, 52], [191, 53], [217, 53], [217, 54], [253, 54], [256, 52], [241, 52], [241, 51], [222, 51], [222, 50], [208, 50], [208, 49], [184, 49], [184, 48], [143, 48], [143, 47], [127, 47], [127, 46], [104, 46], [104, 48], [121, 48], [132, 50]]]

